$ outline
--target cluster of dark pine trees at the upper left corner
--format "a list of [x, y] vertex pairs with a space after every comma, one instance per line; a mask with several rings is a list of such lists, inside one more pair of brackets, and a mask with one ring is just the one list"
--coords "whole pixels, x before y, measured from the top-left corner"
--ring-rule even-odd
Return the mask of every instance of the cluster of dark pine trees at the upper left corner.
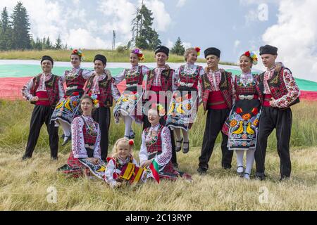
[[33, 39], [30, 34], [29, 15], [23, 4], [18, 1], [12, 15], [8, 15], [6, 7], [1, 11], [0, 20], [0, 51], [9, 50], [43, 50], [67, 49], [61, 37], [53, 43], [49, 37]]

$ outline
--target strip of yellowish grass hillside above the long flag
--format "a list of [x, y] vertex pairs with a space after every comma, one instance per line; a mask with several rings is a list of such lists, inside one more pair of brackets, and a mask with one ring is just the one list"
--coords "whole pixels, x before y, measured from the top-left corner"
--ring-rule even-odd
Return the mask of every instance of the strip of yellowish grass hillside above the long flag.
[[[19, 60], [39, 60], [44, 55], [49, 55], [56, 61], [67, 62], [70, 60], [70, 50], [47, 50], [47, 51], [0, 51], [1, 59], [19, 59]], [[103, 54], [107, 57], [109, 63], [129, 63], [129, 51], [111, 51], [111, 50], [83, 50], [85, 62], [94, 60], [97, 54]], [[143, 63], [154, 63], [154, 52], [144, 51], [145, 60]], [[182, 63], [184, 57], [171, 54], [168, 60], [170, 63]], [[198, 62], [204, 63], [205, 60], [199, 58]], [[223, 65], [234, 65], [233, 63], [222, 62]]]

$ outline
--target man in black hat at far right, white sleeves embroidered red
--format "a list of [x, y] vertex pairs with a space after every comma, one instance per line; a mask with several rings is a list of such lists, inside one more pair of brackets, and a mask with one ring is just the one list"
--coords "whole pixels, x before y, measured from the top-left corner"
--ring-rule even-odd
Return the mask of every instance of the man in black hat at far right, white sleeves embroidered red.
[[276, 129], [278, 155], [280, 156], [280, 176], [287, 179], [291, 174], [290, 136], [292, 110], [290, 106], [299, 103], [300, 91], [292, 72], [282, 67], [275, 69], [278, 48], [270, 45], [260, 48], [260, 55], [266, 72], [260, 75], [259, 89], [264, 94], [260, 117], [259, 136], [256, 144], [256, 179], [265, 179], [265, 158], [268, 136]]

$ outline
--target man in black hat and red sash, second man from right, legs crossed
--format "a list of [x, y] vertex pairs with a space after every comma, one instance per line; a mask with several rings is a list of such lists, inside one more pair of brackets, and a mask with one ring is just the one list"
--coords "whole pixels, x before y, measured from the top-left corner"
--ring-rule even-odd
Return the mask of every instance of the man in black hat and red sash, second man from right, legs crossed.
[[223, 169], [231, 168], [233, 155], [233, 152], [228, 150], [228, 136], [222, 131], [223, 124], [225, 124], [232, 108], [231, 73], [218, 68], [219, 49], [209, 48], [204, 53], [208, 67], [202, 77], [202, 101], [204, 110], [205, 112], [208, 110], [208, 114], [201, 156], [199, 157], [199, 168], [197, 169], [199, 174], [206, 174], [209, 168], [208, 163], [220, 131], [223, 136], [221, 143]]

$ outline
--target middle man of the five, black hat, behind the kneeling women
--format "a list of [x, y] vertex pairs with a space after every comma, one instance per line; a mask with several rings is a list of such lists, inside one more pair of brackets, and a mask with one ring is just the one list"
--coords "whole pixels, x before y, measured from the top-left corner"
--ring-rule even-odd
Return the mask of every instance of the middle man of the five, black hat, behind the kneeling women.
[[[155, 60], [157, 67], [149, 72], [147, 77], [147, 85], [145, 86], [144, 95], [144, 122], [143, 129], [151, 127], [151, 123], [147, 117], [147, 109], [152, 103], [160, 103], [165, 108], [166, 112], [172, 98], [173, 91], [177, 89], [175, 84], [175, 70], [170, 69], [166, 65], [170, 49], [166, 46], [157, 46], [155, 50]], [[166, 116], [161, 117], [160, 124], [166, 125]], [[175, 151], [175, 140], [173, 131], [170, 130], [170, 137], [172, 142], [172, 162], [174, 167], [178, 167], [176, 151]]]

